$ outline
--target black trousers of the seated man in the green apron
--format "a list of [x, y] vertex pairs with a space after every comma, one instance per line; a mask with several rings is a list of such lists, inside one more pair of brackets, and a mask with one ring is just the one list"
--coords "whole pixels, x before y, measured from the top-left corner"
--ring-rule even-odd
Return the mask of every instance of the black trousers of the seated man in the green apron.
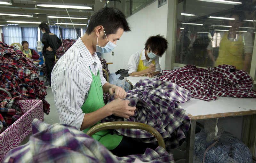
[[121, 143], [113, 150], [114, 155], [122, 157], [131, 154], [144, 154], [147, 148], [155, 150], [158, 144], [138, 142], [131, 137], [123, 136]]

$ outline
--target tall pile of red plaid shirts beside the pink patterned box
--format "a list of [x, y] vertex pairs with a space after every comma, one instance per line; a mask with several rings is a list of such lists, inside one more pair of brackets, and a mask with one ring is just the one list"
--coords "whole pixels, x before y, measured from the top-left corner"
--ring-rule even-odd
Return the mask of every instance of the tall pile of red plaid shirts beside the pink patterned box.
[[23, 113], [15, 105], [16, 100], [41, 99], [44, 113], [49, 114], [50, 105], [43, 81], [39, 80], [37, 67], [20, 50], [0, 42], [0, 87], [9, 91], [12, 98], [0, 91], [0, 133]]

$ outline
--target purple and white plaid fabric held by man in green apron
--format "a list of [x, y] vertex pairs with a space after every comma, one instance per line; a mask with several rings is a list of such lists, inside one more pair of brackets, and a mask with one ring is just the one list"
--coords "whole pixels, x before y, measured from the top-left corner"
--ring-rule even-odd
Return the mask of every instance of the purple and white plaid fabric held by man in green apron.
[[[101, 122], [132, 121], [148, 124], [163, 136], [167, 151], [178, 147], [185, 140], [190, 120], [178, 103], [185, 103], [190, 99], [187, 89], [159, 79], [144, 79], [127, 92], [125, 99], [130, 101], [130, 106], [138, 108], [134, 116], [125, 119], [112, 115]], [[139, 138], [145, 143], [157, 141], [152, 134], [140, 129], [115, 129], [115, 131], [119, 135]]]

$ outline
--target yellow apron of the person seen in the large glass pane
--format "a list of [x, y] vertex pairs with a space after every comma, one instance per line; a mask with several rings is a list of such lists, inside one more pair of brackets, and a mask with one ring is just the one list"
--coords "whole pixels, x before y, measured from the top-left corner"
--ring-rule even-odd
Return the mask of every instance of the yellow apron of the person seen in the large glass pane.
[[236, 66], [236, 69], [243, 69], [243, 53], [244, 43], [243, 37], [239, 35], [239, 38], [235, 42], [228, 40], [228, 33], [226, 33], [220, 41], [219, 56], [215, 62], [215, 66], [219, 65], [232, 65]]

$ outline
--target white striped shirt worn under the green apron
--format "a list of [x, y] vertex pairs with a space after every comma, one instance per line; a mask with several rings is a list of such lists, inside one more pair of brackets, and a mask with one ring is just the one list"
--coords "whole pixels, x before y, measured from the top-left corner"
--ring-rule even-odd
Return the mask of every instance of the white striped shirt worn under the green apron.
[[92, 73], [100, 71], [102, 86], [107, 82], [102, 75], [102, 65], [96, 52], [92, 55], [81, 38], [58, 60], [52, 70], [52, 93], [59, 112], [60, 123], [70, 124], [80, 130], [84, 113], [82, 105], [91, 83]]

